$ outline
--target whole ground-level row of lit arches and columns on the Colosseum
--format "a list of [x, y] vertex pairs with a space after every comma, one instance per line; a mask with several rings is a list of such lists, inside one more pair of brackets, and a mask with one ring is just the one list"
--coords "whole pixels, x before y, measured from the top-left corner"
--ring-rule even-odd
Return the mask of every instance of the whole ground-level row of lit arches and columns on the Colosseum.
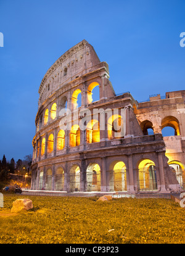
[[161, 157], [99, 157], [32, 168], [31, 189], [67, 192], [177, 192], [185, 189], [184, 165], [162, 166]]

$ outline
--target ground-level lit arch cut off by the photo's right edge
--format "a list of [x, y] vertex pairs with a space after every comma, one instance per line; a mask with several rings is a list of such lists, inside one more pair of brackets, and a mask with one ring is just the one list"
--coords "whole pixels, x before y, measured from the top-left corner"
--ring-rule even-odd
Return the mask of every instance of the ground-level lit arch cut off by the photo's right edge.
[[175, 173], [176, 179], [178, 180], [181, 188], [185, 189], [185, 166], [183, 163], [173, 160], [168, 163], [171, 170]]

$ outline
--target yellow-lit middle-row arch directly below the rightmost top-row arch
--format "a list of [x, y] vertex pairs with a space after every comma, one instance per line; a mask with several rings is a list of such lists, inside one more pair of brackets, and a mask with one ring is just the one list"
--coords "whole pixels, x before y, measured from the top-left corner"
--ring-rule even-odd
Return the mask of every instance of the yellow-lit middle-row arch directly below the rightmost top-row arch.
[[86, 141], [87, 143], [100, 141], [99, 122], [97, 120], [93, 119], [88, 122], [86, 130]]

